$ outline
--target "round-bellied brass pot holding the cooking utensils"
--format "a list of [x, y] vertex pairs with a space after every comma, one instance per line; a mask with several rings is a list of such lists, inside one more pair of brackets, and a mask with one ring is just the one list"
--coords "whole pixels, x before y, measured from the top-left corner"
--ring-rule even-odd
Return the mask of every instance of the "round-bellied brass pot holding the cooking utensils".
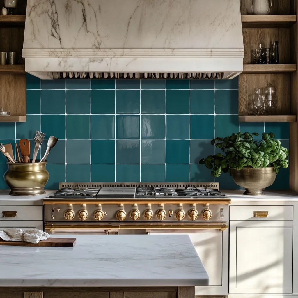
[[42, 195], [49, 180], [47, 162], [12, 163], [7, 162], [8, 170], [4, 181], [10, 187], [10, 195]]

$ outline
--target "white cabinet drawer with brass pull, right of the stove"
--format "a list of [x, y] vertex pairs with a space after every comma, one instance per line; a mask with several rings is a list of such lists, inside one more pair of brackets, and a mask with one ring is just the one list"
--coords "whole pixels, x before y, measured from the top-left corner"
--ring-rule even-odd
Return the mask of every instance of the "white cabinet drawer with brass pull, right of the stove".
[[[230, 206], [230, 221], [292, 221], [293, 206]], [[258, 212], [259, 211], [259, 212]], [[266, 217], [264, 214], [268, 212]], [[254, 215], [254, 213], [256, 213]]]

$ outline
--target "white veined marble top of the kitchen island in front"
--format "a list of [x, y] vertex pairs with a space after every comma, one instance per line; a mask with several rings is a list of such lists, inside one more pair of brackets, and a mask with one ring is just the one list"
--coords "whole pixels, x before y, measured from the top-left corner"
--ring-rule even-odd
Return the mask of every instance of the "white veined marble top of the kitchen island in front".
[[0, 246], [0, 286], [196, 286], [209, 277], [188, 235], [51, 235], [75, 247]]

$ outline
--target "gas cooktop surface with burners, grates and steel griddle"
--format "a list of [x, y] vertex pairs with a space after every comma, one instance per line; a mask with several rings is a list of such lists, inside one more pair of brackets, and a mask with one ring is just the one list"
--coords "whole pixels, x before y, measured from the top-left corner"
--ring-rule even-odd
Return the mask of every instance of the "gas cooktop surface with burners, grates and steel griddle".
[[60, 188], [50, 198], [222, 198], [219, 190], [202, 187], [84, 187]]

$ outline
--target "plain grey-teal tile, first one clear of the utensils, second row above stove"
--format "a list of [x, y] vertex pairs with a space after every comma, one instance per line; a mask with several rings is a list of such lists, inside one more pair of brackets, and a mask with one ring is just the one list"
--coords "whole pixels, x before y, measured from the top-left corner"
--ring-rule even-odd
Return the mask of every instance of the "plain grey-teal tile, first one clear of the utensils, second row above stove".
[[90, 164], [90, 140], [66, 140], [66, 162], [68, 164]]

